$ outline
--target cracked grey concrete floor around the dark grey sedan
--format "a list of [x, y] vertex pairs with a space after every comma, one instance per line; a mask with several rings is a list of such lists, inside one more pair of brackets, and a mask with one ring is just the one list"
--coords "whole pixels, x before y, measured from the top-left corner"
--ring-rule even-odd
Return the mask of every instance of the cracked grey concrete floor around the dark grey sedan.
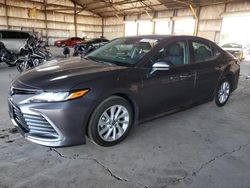
[[223, 108], [209, 102], [136, 126], [121, 144], [49, 148], [13, 131], [0, 64], [0, 187], [250, 187], [250, 63]]

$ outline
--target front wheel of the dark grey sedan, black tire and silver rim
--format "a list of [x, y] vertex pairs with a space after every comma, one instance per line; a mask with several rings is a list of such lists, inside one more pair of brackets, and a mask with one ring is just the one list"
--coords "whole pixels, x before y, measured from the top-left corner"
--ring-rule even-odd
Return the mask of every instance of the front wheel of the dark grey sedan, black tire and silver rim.
[[[111, 110], [114, 112], [113, 118]], [[97, 145], [113, 146], [127, 137], [132, 124], [133, 110], [129, 102], [124, 98], [112, 96], [101, 102], [92, 113], [88, 136]]]

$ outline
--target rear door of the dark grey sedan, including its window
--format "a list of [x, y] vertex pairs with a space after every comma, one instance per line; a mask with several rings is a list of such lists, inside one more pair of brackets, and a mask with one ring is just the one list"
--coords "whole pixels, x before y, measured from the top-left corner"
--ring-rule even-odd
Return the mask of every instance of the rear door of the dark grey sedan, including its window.
[[196, 72], [192, 100], [210, 98], [221, 75], [223, 61], [214, 45], [207, 40], [189, 40], [189, 48], [192, 69]]

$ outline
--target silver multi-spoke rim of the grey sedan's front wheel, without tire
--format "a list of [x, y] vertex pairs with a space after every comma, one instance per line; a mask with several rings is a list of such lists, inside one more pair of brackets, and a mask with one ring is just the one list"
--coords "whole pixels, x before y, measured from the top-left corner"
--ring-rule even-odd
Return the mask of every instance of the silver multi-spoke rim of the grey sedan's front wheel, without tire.
[[128, 129], [129, 112], [122, 105], [114, 105], [106, 109], [98, 122], [98, 134], [108, 142], [119, 139]]

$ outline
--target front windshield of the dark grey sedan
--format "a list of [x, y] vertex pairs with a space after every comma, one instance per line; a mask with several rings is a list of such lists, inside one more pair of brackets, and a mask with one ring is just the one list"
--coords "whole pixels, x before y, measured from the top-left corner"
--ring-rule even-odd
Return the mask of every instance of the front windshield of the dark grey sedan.
[[87, 58], [134, 66], [157, 44], [155, 39], [120, 38], [90, 53]]

